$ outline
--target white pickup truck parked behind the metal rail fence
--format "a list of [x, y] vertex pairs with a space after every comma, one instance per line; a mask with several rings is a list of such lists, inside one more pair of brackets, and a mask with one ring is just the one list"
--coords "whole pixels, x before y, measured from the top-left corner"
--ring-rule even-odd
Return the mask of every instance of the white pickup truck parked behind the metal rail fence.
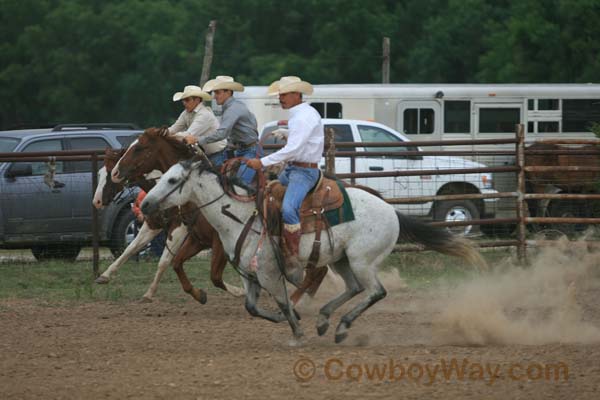
[[[335, 142], [410, 142], [401, 133], [376, 122], [350, 119], [324, 118], [325, 130], [333, 128]], [[281, 139], [271, 134], [277, 129], [285, 129], [285, 121], [271, 121], [261, 131], [263, 144], [282, 144]], [[485, 168], [484, 164], [459, 157], [402, 155], [403, 151], [422, 151], [419, 147], [362, 147], [338, 148], [337, 151], [364, 152], [366, 156], [356, 157], [354, 172], [383, 172], [409, 170], [447, 170], [464, 168]], [[369, 152], [400, 152], [394, 156], [369, 156]], [[321, 160], [321, 168], [325, 160]], [[337, 174], [350, 173], [349, 157], [336, 157]], [[378, 190], [384, 198], [422, 197], [444, 194], [463, 193], [497, 193], [493, 188], [491, 173], [469, 173], [449, 175], [398, 176], [380, 178], [357, 178], [357, 184], [370, 186]], [[418, 217], [426, 217], [435, 221], [468, 221], [480, 218], [491, 218], [495, 214], [497, 199], [485, 200], [451, 200], [421, 202], [415, 204], [395, 205], [401, 212]], [[457, 234], [474, 234], [477, 226], [468, 225], [450, 229]]]

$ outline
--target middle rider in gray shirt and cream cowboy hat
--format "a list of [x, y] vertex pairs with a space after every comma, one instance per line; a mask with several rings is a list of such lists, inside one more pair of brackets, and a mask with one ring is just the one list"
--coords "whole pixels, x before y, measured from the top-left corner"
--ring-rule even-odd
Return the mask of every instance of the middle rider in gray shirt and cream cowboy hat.
[[[242, 84], [235, 82], [230, 76], [217, 76], [204, 84], [205, 92], [212, 92], [217, 104], [223, 107], [223, 116], [219, 128], [207, 136], [198, 139], [204, 145], [227, 139], [228, 147], [233, 150], [234, 157], [255, 158], [257, 155], [258, 129], [256, 117], [248, 107], [233, 97], [233, 92], [244, 91]], [[255, 171], [242, 163], [238, 176], [246, 183], [254, 178]]]

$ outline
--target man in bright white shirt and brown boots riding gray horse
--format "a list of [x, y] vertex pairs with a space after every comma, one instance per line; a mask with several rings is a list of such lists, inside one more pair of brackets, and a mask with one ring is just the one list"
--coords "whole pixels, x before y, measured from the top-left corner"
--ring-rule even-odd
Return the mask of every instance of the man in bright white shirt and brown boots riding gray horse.
[[[283, 198], [283, 241], [288, 268], [297, 272], [302, 268], [298, 262], [300, 229], [300, 206], [306, 194], [317, 183], [319, 161], [325, 143], [321, 116], [313, 107], [302, 102], [302, 95], [310, 95], [312, 85], [296, 76], [284, 76], [269, 86], [269, 95], [279, 95], [281, 107], [290, 110], [287, 144], [279, 151], [263, 158], [249, 160], [250, 168], [260, 169], [280, 162], [287, 162], [279, 181], [287, 186]], [[302, 269], [300, 269], [302, 271]]]

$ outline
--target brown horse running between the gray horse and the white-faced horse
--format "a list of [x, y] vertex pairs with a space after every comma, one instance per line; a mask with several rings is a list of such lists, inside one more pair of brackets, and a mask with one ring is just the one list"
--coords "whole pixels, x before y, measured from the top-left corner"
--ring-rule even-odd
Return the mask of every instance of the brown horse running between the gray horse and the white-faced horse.
[[[134, 180], [135, 177], [154, 170], [164, 172], [179, 159], [189, 158], [193, 154], [187, 145], [169, 137], [167, 128], [148, 128], [129, 146], [121, 159], [112, 168], [112, 181], [122, 184], [126, 180]], [[173, 209], [177, 210], [179, 221], [183, 222], [187, 228], [183, 226], [180, 228], [184, 234], [181, 246], [170, 246], [167, 242], [165, 251], [170, 249], [168, 252], [170, 256], [173, 256], [172, 253], [176, 253], [172, 261], [173, 269], [177, 273], [184, 291], [190, 293], [200, 302], [205, 301], [206, 293], [191, 284], [183, 269], [183, 263], [202, 250], [212, 249], [210, 270], [212, 283], [235, 296], [243, 295], [243, 289], [223, 281], [223, 270], [227, 265], [223, 245], [219, 235], [199, 212], [198, 207], [193, 203], [189, 203]], [[169, 255], [163, 253], [163, 257], [166, 256], [168, 261], [170, 261]], [[163, 257], [159, 262], [159, 271], [161, 270]], [[164, 271], [166, 266], [162, 268]], [[160, 278], [159, 271], [157, 271], [158, 278]]]

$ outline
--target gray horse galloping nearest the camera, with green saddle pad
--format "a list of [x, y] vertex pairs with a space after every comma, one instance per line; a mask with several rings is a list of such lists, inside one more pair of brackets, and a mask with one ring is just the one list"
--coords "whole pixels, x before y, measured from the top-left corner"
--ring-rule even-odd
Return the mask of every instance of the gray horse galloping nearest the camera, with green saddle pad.
[[[275, 246], [265, 245], [257, 251], [265, 226], [261, 218], [251, 219], [257, 205], [242, 202], [230, 196], [223, 188], [224, 179], [212, 169], [206, 156], [200, 161], [180, 162], [171, 167], [146, 195], [143, 212], [173, 207], [192, 201], [202, 207], [208, 222], [219, 232], [223, 246], [230, 258], [239, 259], [238, 268], [247, 288], [246, 309], [254, 316], [273, 322], [287, 319], [294, 338], [303, 335], [298, 318], [286, 291], [281, 266], [276, 260]], [[345, 282], [346, 289], [338, 297], [325, 304], [319, 312], [317, 332], [325, 334], [329, 317], [340, 306], [358, 293], [365, 292], [366, 299], [345, 314], [335, 333], [336, 343], [344, 340], [348, 330], [360, 314], [385, 297], [386, 291], [377, 278], [377, 268], [391, 253], [399, 240], [416, 241], [433, 250], [468, 259], [485, 265], [481, 255], [464, 239], [452, 236], [444, 229], [431, 227], [396, 212], [393, 206], [364, 190], [348, 188], [355, 220], [331, 228], [332, 241], [322, 241], [318, 265], [329, 265]], [[227, 209], [236, 219], [225, 218]], [[253, 221], [250, 229], [239, 221]], [[248, 235], [238, 243], [242, 231]], [[315, 234], [305, 234], [300, 242], [299, 258], [307, 262], [312, 251]], [[268, 242], [267, 242], [268, 243]], [[239, 251], [236, 254], [236, 247]], [[257, 265], [257, 268], [253, 266]], [[275, 299], [281, 314], [261, 310], [257, 300], [261, 288]]]

